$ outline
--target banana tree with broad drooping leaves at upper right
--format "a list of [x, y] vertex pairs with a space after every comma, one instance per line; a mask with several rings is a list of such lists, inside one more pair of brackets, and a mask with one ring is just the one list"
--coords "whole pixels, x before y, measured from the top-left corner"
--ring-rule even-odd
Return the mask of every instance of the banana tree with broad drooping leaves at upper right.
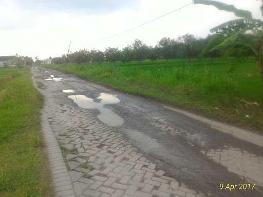
[[[263, 15], [263, 0], [261, 1], [262, 6], [260, 9]], [[233, 12], [236, 16], [241, 17], [239, 19], [223, 23], [210, 30], [212, 33], [220, 34], [225, 37], [220, 44], [210, 50], [213, 51], [220, 48], [230, 47], [230, 51], [237, 45], [249, 47], [253, 50], [255, 56], [257, 57], [261, 79], [263, 81], [263, 22], [259, 19], [253, 18], [250, 11], [237, 9], [233, 5], [212, 0], [194, 0], [193, 2], [194, 4], [214, 6], [219, 10]], [[247, 32], [253, 33], [255, 36], [246, 36]], [[208, 49], [206, 49], [206, 51], [207, 50]]]

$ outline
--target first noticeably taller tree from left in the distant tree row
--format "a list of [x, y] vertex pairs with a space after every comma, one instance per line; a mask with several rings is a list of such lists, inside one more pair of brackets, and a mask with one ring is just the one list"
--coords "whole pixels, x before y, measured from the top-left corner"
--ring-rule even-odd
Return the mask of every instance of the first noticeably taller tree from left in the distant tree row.
[[133, 43], [133, 52], [135, 60], [139, 61], [139, 64], [142, 65], [142, 62], [148, 55], [148, 46], [143, 44], [140, 40], [135, 40]]

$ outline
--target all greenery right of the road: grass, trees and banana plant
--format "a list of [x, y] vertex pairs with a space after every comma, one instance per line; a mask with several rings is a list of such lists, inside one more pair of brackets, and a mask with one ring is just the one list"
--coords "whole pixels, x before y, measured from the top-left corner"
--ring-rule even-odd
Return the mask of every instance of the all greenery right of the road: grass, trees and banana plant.
[[239, 19], [212, 28], [206, 38], [185, 34], [156, 46], [135, 40], [122, 50], [83, 49], [53, 58], [49, 67], [262, 132], [263, 22], [233, 5], [193, 3]]

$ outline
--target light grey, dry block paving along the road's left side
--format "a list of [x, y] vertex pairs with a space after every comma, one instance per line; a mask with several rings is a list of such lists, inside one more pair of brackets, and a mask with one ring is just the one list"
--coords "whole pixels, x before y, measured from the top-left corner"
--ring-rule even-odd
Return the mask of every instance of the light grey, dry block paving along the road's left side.
[[[45, 95], [43, 118], [48, 120], [43, 122], [43, 130], [46, 132], [45, 139], [48, 143], [47, 150], [57, 196], [215, 196], [210, 192], [203, 194], [201, 189], [196, 191], [191, 184], [186, 186], [181, 182], [179, 176], [171, 176], [171, 173], [166, 172], [165, 164], [159, 165], [160, 161], [154, 161], [151, 154], [145, 154], [143, 149], [125, 136], [125, 128], [110, 127], [102, 123], [98, 120], [96, 110], [78, 107], [67, 98], [67, 94], [62, 92], [70, 88], [90, 91], [98, 89], [106, 91], [106, 89], [76, 82], [70, 76], [68, 76], [68, 81], [64, 82], [45, 81], [43, 73], [37, 73], [36, 70], [33, 72], [35, 80], [41, 81], [46, 86], [40, 90]], [[127, 106], [130, 110], [133, 110], [131, 109], [133, 107], [132, 104]], [[133, 119], [129, 113], [123, 113], [125, 113], [122, 115], [125, 121], [130, 121], [132, 124], [136, 124], [138, 119], [151, 119], [149, 116], [137, 116]], [[179, 133], [176, 128], [169, 126], [165, 121], [153, 120], [143, 126], [154, 126], [162, 134], [168, 132], [171, 136]], [[54, 141], [54, 136], [57, 141]], [[188, 139], [191, 137], [193, 136], [189, 135]], [[205, 140], [200, 137], [198, 143], [202, 146]], [[186, 144], [191, 147], [192, 143], [189, 141]], [[205, 150], [202, 151], [202, 154], [215, 158], [214, 155], [220, 153]], [[222, 160], [222, 157], [220, 159]], [[263, 161], [258, 156], [256, 160], [256, 164], [261, 164]], [[219, 159], [214, 159], [214, 161], [220, 164]], [[179, 164], [178, 160], [178, 166], [181, 168], [180, 165], [182, 164]], [[183, 165], [187, 169], [187, 164]], [[258, 170], [260, 167], [255, 168]], [[177, 170], [175, 167], [174, 171]], [[258, 180], [261, 181], [260, 178]], [[222, 196], [228, 195], [222, 194]], [[259, 196], [258, 193], [255, 196]]]

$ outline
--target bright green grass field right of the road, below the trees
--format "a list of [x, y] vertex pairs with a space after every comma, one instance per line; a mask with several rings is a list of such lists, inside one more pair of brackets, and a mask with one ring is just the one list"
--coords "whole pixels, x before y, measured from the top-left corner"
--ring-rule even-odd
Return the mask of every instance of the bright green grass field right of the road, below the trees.
[[263, 83], [252, 58], [51, 65], [88, 81], [140, 94], [223, 122], [263, 130]]

